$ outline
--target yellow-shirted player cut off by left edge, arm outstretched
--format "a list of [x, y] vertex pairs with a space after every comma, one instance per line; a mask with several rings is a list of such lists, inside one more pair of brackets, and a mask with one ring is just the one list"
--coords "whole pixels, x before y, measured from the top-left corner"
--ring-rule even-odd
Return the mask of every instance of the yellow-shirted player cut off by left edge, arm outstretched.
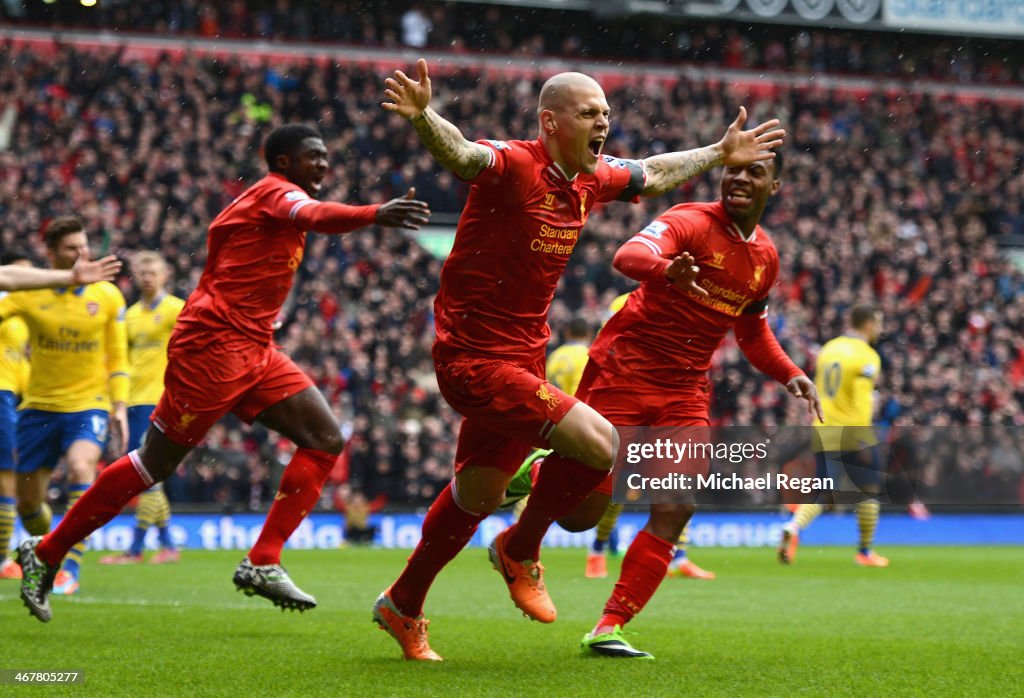
[[[82, 257], [71, 269], [36, 269], [28, 255], [16, 251], [4, 253], [0, 266], [0, 290], [26, 291], [81, 286], [113, 279], [121, 269], [116, 257], [90, 261]], [[13, 316], [0, 324], [0, 579], [20, 579], [22, 568], [7, 559], [14, 533], [16, 487], [14, 448], [16, 445], [16, 408], [29, 385], [29, 328]], [[22, 522], [33, 534], [50, 530], [49, 506], [42, 501], [35, 511], [22, 513]]]

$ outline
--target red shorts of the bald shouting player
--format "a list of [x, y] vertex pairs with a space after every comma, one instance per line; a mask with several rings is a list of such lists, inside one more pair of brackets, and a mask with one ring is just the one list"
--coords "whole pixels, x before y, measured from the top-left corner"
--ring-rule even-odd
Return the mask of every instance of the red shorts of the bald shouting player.
[[435, 361], [437, 385], [465, 418], [459, 431], [455, 469], [498, 468], [513, 474], [531, 448], [548, 437], [579, 402], [544, 379], [544, 360], [531, 366], [466, 358]]

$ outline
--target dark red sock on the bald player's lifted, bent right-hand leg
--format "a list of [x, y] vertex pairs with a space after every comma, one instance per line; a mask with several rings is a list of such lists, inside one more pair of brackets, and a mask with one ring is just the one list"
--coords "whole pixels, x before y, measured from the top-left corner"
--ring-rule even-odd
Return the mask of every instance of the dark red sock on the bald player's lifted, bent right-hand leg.
[[526, 508], [505, 538], [506, 555], [516, 561], [540, 560], [541, 540], [551, 524], [575, 509], [607, 476], [558, 453], [546, 457]]

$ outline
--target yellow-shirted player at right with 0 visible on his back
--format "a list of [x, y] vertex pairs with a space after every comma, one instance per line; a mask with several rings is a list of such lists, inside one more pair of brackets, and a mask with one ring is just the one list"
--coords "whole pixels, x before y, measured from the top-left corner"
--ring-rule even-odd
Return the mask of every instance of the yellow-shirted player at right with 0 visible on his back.
[[[817, 477], [842, 482], [844, 474], [867, 497], [857, 503], [860, 541], [854, 562], [862, 567], [888, 567], [889, 559], [873, 550], [879, 525], [879, 500], [884, 476], [878, 438], [871, 427], [874, 411], [874, 383], [882, 359], [871, 347], [882, 332], [882, 313], [869, 305], [850, 310], [850, 332], [826, 342], [818, 354], [814, 383], [821, 393], [824, 419], [816, 430], [815, 447], [820, 450]], [[782, 528], [778, 560], [791, 564], [797, 558], [800, 532], [824, 511], [822, 504], [800, 505]]]

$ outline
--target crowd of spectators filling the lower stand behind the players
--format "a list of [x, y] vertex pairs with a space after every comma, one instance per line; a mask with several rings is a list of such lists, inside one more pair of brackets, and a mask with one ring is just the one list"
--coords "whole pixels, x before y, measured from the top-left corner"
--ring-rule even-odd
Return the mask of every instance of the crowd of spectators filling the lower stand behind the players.
[[[184, 297], [205, 262], [206, 226], [262, 174], [259, 143], [269, 129], [294, 120], [316, 123], [335, 154], [324, 198], [380, 202], [415, 185], [435, 212], [450, 214], [465, 198], [466, 185], [380, 108], [383, 76], [365, 67], [298, 60], [254, 70], [196, 53], [146, 62], [57, 51], [0, 48], [3, 249], [28, 246], [42, 258], [41, 223], [75, 213], [104, 252], [130, 259], [160, 250]], [[535, 133], [528, 95], [542, 77], [486, 76], [435, 75], [442, 113], [469, 138]], [[782, 262], [770, 317], [798, 363], [812, 367], [852, 303], [876, 302], [886, 316], [884, 420], [1024, 425], [1024, 274], [999, 247], [1024, 233], [1020, 103], [812, 87], [755, 99], [653, 79], [626, 81], [607, 96], [605, 151], [625, 157], [713, 142], [739, 103], [754, 121], [782, 120], [783, 188], [765, 219]], [[552, 308], [553, 346], [572, 315], [597, 326], [630, 289], [610, 266], [620, 243], [671, 203], [717, 191], [711, 175], [658, 200], [596, 211]], [[438, 395], [430, 360], [440, 265], [396, 230], [310, 239], [279, 341], [344, 425], [344, 491], [425, 505], [451, 477], [459, 417]], [[121, 287], [130, 301], [127, 276]], [[713, 378], [721, 423], [805, 423], [802, 405], [753, 370], [734, 343], [719, 352]], [[957, 463], [958, 500], [1024, 500], [1024, 463], [984, 455], [994, 450]], [[168, 494], [258, 508], [291, 452], [262, 429], [226, 422], [168, 481]], [[939, 464], [920, 479], [926, 499], [948, 500]]]

